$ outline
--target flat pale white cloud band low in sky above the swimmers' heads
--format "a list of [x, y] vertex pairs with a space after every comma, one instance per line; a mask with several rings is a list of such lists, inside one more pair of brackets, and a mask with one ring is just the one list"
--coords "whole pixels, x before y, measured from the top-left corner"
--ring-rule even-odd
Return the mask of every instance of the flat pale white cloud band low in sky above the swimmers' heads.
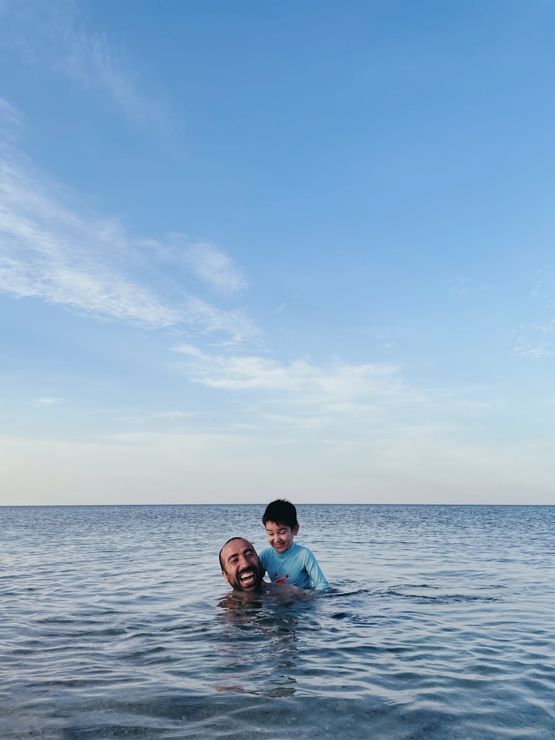
[[255, 354], [209, 354], [187, 343], [172, 348], [194, 383], [232, 394], [249, 423], [272, 432], [332, 434], [364, 440], [374, 434], [434, 425], [449, 430], [496, 408], [488, 388], [417, 388], [387, 363], [283, 363]]

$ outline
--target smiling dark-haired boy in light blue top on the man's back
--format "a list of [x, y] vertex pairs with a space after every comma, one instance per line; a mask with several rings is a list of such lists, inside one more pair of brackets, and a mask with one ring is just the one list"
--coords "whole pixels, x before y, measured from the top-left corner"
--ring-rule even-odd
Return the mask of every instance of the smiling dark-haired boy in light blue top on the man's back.
[[272, 547], [260, 553], [260, 562], [272, 582], [289, 583], [302, 588], [323, 591], [328, 588], [326, 576], [309, 550], [293, 542], [299, 531], [297, 509], [285, 499], [266, 506], [262, 517], [266, 536]]

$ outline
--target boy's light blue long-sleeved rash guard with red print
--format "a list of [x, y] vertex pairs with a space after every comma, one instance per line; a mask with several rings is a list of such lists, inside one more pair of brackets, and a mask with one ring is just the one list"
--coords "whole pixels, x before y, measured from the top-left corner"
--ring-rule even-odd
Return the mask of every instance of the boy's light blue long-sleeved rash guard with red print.
[[309, 548], [303, 548], [295, 542], [284, 553], [266, 548], [259, 557], [272, 582], [289, 583], [301, 588], [313, 586], [316, 591], [323, 591], [329, 586]]

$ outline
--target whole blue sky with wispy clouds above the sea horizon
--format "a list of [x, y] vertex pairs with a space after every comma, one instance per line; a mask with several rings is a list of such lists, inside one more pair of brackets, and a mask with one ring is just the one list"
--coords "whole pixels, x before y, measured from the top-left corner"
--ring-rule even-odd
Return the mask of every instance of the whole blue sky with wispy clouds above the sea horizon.
[[551, 0], [0, 0], [0, 505], [555, 504]]

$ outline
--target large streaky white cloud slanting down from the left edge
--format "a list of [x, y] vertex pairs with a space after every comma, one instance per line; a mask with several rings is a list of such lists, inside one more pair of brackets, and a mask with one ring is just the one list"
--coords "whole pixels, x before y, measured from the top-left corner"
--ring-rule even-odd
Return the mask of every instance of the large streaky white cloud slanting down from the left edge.
[[152, 329], [184, 323], [234, 343], [256, 334], [243, 309], [218, 309], [181, 288], [178, 303], [161, 300], [126, 274], [138, 264], [152, 277], [149, 240], [127, 237], [114, 219], [75, 212], [64, 196], [78, 200], [13, 147], [0, 148], [0, 292]]

